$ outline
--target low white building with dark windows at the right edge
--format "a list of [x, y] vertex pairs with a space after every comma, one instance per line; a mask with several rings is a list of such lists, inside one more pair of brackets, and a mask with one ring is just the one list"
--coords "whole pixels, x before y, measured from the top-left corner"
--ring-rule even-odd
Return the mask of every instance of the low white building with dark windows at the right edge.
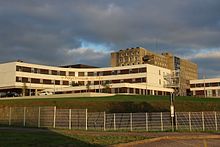
[[220, 98], [220, 78], [191, 80], [190, 90], [195, 97]]

